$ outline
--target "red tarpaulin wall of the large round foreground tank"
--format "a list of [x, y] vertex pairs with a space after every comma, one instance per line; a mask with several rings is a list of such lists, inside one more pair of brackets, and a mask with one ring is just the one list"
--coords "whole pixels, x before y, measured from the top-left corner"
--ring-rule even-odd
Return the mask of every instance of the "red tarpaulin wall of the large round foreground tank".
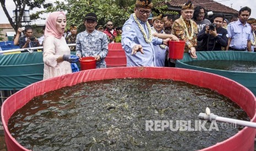
[[[43, 95], [45, 92], [53, 91], [64, 86], [72, 86], [81, 82], [105, 79], [124, 78], [150, 78], [150, 79], [172, 79], [198, 85], [203, 88], [212, 89], [219, 94], [230, 98], [237, 103], [248, 115], [250, 121], [255, 122], [256, 98], [247, 88], [233, 80], [220, 75], [194, 71], [181, 68], [160, 67], [121, 67], [91, 69], [60, 77], [42, 80], [27, 86], [10, 96], [2, 106], [2, 121], [8, 150], [28, 150], [21, 146], [10, 134], [8, 121], [15, 111], [23, 107], [35, 96]], [[244, 138], [247, 139], [244, 139]], [[202, 150], [253, 150], [255, 129], [244, 127], [236, 135], [214, 146]], [[209, 140], [206, 140], [209, 141]]]

